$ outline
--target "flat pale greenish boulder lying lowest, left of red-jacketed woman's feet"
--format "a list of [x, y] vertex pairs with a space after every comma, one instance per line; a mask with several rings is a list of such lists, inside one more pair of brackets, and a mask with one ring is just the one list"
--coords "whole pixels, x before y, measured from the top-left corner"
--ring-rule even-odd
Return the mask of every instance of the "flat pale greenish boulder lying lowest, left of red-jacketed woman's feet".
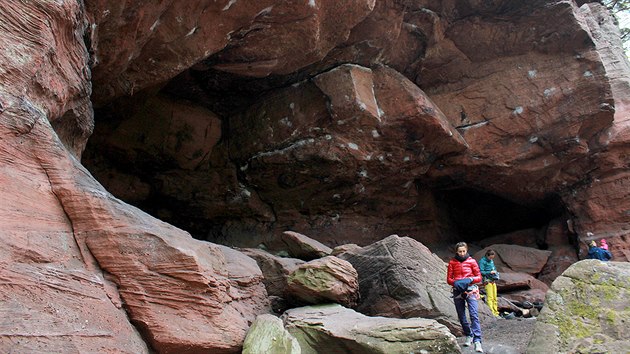
[[340, 305], [288, 310], [285, 327], [302, 353], [461, 353], [455, 336], [434, 320], [367, 317]]

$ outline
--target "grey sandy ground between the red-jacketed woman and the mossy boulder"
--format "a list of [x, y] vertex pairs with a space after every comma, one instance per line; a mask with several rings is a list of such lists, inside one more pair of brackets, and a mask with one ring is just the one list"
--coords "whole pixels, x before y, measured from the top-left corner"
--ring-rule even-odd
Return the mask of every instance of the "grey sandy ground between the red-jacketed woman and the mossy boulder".
[[[536, 318], [497, 319], [482, 323], [481, 336], [484, 353], [524, 354], [534, 331]], [[462, 353], [475, 353], [472, 346], [464, 347], [466, 337], [457, 338]]]

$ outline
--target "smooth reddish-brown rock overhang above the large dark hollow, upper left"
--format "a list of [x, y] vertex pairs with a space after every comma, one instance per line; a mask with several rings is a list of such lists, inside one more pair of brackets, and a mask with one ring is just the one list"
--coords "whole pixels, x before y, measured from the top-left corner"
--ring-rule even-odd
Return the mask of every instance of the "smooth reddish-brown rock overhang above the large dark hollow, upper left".
[[86, 2], [101, 103], [164, 83], [217, 54], [223, 71], [285, 74], [323, 58], [374, 0]]

